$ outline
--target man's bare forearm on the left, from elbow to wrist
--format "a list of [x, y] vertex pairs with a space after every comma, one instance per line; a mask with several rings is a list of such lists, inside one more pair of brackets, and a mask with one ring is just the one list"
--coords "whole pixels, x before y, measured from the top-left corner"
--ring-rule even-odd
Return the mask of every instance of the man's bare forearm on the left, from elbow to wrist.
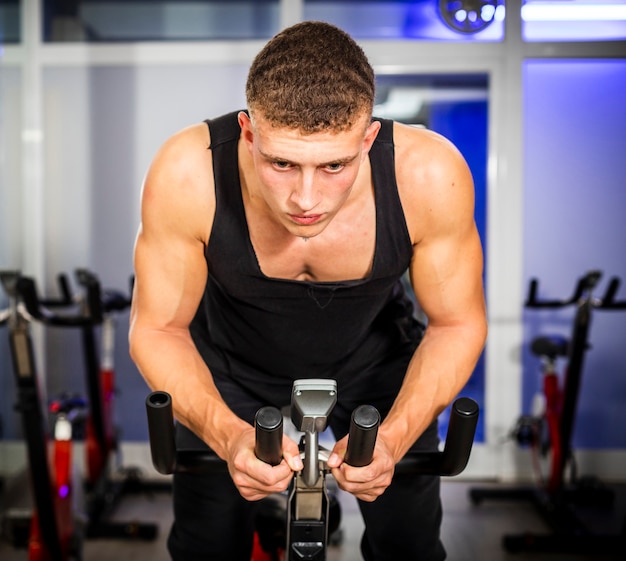
[[176, 419], [226, 459], [229, 442], [250, 425], [224, 403], [189, 332], [135, 326], [130, 351], [148, 386], [172, 396]]

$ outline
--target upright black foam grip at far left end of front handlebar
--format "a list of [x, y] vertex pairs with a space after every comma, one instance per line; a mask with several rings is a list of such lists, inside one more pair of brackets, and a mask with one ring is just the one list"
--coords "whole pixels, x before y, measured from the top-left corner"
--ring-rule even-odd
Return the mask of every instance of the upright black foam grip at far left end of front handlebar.
[[172, 398], [166, 392], [152, 392], [146, 398], [148, 415], [148, 436], [152, 464], [164, 475], [176, 469], [176, 439], [174, 437], [174, 416]]

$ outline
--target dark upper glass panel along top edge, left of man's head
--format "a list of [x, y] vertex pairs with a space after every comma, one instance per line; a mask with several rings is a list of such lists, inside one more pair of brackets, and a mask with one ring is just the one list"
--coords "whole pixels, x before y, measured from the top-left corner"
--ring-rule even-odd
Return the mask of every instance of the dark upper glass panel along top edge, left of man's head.
[[279, 29], [279, 0], [44, 0], [44, 40], [263, 39]]

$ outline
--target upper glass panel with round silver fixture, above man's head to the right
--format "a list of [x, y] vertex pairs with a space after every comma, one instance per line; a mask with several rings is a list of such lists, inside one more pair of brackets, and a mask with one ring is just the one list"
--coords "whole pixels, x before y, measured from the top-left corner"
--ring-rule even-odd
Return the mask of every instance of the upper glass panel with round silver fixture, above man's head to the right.
[[504, 0], [305, 0], [304, 19], [360, 39], [501, 41]]

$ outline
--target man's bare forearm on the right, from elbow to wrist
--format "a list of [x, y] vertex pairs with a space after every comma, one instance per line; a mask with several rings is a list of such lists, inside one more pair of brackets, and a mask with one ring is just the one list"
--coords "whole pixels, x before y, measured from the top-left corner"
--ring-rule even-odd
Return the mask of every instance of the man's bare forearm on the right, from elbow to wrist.
[[486, 324], [428, 327], [391, 411], [380, 427], [398, 462], [454, 400], [471, 376], [483, 349]]

